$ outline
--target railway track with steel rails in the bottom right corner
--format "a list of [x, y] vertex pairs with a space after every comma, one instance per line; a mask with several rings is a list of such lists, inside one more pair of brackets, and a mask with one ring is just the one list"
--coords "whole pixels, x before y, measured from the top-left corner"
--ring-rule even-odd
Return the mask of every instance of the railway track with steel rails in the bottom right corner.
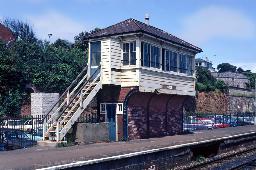
[[256, 169], [256, 147], [223, 156], [201, 164], [183, 168], [182, 170], [236, 170]]

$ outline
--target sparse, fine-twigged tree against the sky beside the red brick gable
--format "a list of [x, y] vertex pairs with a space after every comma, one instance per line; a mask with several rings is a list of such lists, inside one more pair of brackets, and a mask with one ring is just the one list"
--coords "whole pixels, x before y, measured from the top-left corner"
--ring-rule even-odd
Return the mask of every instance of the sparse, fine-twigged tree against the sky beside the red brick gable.
[[26, 22], [24, 22], [19, 19], [4, 18], [1, 20], [1, 23], [11, 30], [15, 39], [27, 41], [31, 44], [37, 41], [34, 25], [31, 25], [29, 21], [26, 20]]

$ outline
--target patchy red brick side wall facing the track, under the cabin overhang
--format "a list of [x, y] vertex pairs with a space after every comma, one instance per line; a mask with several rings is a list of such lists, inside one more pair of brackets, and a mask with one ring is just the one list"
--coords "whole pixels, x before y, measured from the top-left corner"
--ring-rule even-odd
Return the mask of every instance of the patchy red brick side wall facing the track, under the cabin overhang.
[[137, 92], [128, 100], [128, 140], [166, 135], [166, 104], [170, 97], [172, 98], [168, 103], [167, 135], [182, 133], [182, 104], [187, 96]]

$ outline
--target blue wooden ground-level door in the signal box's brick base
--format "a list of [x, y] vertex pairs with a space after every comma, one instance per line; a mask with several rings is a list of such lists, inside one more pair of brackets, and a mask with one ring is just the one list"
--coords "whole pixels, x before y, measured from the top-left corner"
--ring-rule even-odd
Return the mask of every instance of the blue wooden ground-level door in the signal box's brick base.
[[107, 104], [107, 122], [109, 126], [109, 140], [116, 141], [116, 104]]

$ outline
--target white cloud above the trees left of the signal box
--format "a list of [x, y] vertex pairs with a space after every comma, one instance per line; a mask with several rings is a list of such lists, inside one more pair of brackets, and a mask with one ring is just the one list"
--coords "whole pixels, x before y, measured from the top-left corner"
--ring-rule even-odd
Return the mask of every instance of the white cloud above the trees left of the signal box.
[[52, 34], [51, 42], [58, 38], [73, 42], [76, 35], [88, 30], [84, 25], [57, 12], [48, 11], [46, 15], [30, 16], [29, 18], [30, 22], [34, 24], [38, 39], [48, 40], [48, 33], [50, 33]]

